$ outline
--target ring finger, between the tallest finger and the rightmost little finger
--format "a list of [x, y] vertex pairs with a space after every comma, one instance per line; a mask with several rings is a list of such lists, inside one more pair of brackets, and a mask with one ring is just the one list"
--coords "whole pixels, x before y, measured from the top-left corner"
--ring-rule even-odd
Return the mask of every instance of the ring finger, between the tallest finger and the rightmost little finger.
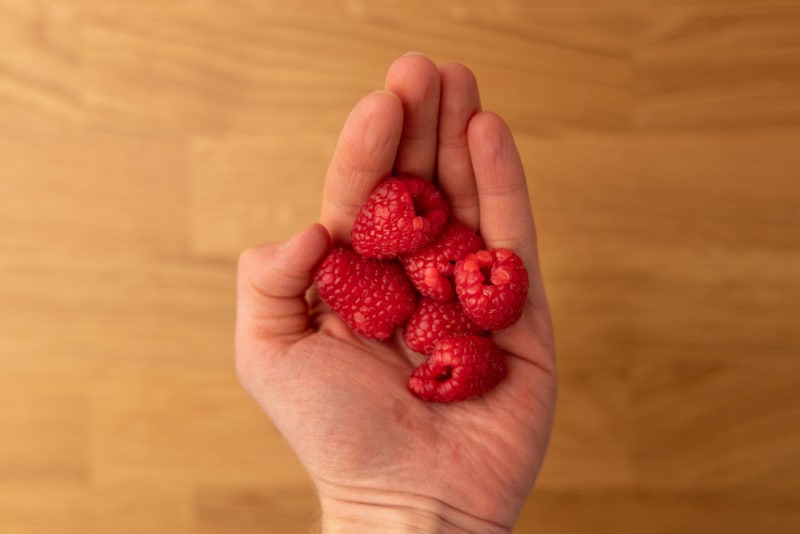
[[439, 188], [450, 202], [453, 215], [462, 223], [478, 228], [478, 195], [467, 140], [467, 125], [481, 109], [478, 84], [472, 72], [457, 63], [442, 65], [439, 76]]

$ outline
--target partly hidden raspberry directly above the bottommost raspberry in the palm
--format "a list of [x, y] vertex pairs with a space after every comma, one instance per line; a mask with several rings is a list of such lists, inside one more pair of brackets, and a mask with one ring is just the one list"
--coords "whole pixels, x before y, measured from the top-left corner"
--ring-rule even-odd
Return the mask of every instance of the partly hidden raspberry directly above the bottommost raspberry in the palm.
[[403, 340], [411, 350], [430, 354], [436, 342], [444, 337], [483, 333], [484, 330], [464, 314], [458, 300], [439, 302], [422, 297], [406, 322]]

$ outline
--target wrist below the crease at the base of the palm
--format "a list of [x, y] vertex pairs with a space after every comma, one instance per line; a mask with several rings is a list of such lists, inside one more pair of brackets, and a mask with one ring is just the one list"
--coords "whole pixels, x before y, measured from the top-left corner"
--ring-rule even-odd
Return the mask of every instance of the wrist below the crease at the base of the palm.
[[370, 488], [320, 491], [322, 534], [507, 534], [506, 527], [422, 495]]

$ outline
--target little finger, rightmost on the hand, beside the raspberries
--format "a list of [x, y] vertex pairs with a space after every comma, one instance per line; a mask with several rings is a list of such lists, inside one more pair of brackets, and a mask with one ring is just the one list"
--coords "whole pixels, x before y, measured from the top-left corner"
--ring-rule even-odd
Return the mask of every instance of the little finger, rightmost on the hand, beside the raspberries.
[[476, 114], [468, 140], [480, 204], [480, 230], [487, 245], [516, 252], [528, 269], [529, 301], [546, 310], [528, 186], [519, 152], [503, 119]]

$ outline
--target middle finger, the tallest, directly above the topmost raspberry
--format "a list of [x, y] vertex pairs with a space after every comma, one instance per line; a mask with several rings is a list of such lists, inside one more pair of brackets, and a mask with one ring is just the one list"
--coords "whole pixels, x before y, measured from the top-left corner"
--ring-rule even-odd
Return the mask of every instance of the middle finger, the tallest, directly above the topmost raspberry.
[[403, 131], [395, 160], [396, 174], [433, 179], [439, 115], [439, 69], [422, 54], [395, 60], [386, 73], [386, 89], [403, 105]]

